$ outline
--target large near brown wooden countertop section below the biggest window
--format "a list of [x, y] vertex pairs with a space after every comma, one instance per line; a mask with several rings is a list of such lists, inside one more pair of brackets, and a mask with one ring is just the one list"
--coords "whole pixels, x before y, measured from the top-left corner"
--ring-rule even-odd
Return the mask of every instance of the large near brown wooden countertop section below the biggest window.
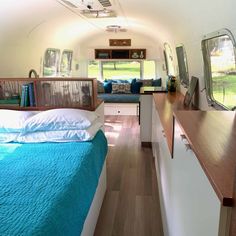
[[236, 166], [236, 113], [174, 111], [223, 206], [233, 205]]

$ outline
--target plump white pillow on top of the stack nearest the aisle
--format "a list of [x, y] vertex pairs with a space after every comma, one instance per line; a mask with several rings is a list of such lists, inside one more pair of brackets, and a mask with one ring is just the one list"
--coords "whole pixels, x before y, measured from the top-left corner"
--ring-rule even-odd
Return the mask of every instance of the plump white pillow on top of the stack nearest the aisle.
[[98, 118], [95, 112], [61, 108], [42, 111], [24, 123], [24, 132], [82, 130]]

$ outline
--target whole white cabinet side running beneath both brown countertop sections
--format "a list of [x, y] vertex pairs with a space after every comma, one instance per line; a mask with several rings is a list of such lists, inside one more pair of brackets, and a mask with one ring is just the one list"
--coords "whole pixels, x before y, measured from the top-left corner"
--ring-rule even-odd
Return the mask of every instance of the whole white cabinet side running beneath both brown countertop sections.
[[223, 207], [197, 157], [175, 124], [171, 158], [155, 102], [152, 147], [165, 236], [225, 236], [231, 208]]

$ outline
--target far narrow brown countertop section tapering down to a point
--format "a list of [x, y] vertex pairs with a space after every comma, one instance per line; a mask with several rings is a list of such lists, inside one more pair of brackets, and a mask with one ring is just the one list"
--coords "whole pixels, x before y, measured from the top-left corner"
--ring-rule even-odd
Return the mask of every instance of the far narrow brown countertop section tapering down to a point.
[[173, 111], [175, 110], [191, 110], [193, 107], [185, 107], [183, 105], [184, 96], [180, 92], [174, 93], [155, 93], [153, 94], [156, 109], [158, 111], [169, 150], [172, 154], [173, 143]]

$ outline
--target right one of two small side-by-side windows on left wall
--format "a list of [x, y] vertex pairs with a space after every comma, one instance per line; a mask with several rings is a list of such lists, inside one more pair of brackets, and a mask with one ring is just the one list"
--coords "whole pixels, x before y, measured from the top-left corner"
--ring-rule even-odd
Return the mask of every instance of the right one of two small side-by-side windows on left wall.
[[72, 69], [72, 56], [73, 52], [70, 50], [64, 50], [61, 56], [60, 75], [70, 76]]

